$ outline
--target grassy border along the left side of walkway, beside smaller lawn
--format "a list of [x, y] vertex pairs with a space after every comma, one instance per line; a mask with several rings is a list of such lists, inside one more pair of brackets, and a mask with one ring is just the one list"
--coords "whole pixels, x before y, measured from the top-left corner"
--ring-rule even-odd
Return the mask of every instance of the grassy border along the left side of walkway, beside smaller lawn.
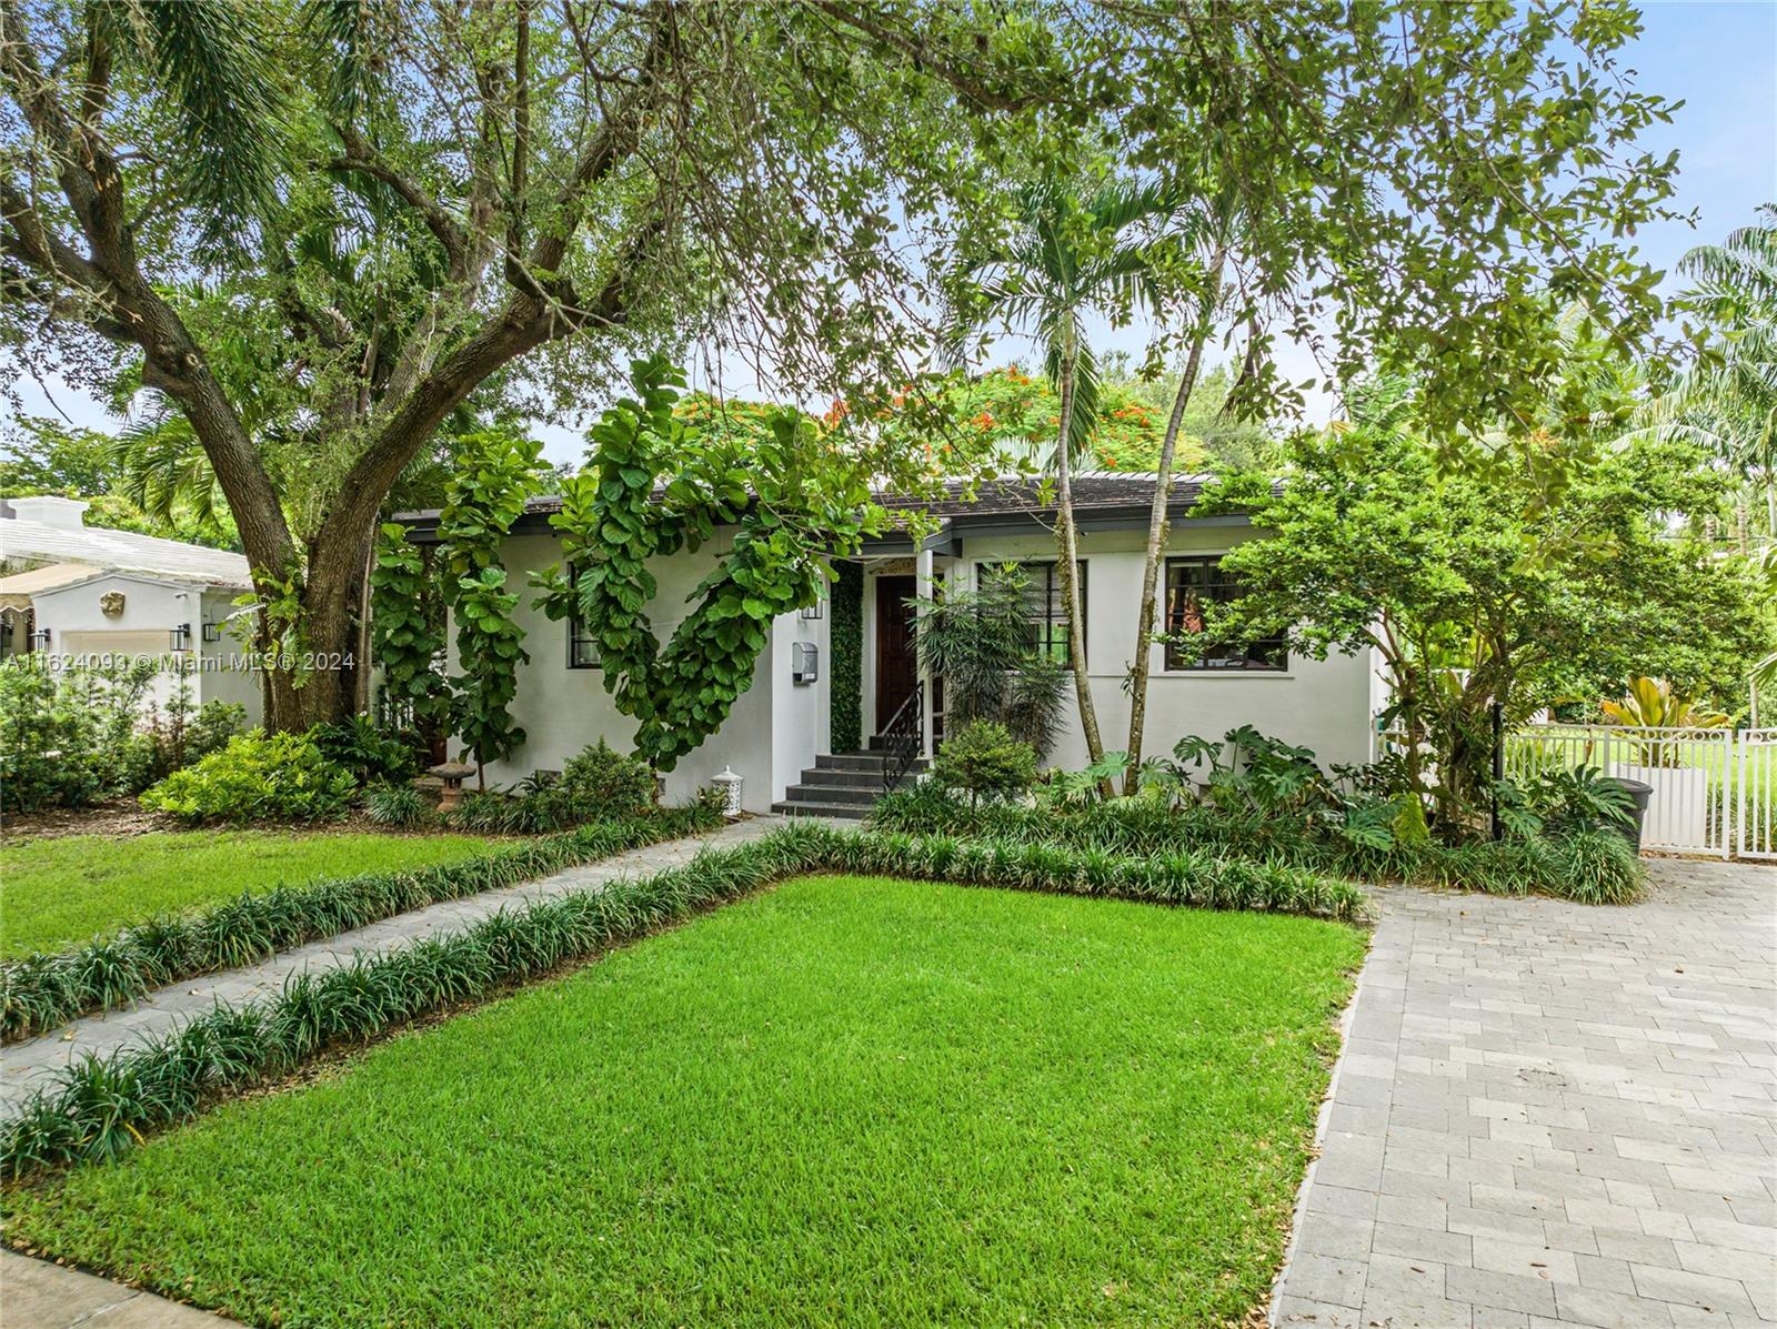
[[480, 895], [661, 840], [714, 830], [704, 803], [624, 821], [595, 821], [455, 863], [320, 878], [243, 892], [187, 915], [160, 915], [73, 951], [0, 965], [0, 1043], [140, 1000], [155, 988], [240, 968], [398, 913]]

